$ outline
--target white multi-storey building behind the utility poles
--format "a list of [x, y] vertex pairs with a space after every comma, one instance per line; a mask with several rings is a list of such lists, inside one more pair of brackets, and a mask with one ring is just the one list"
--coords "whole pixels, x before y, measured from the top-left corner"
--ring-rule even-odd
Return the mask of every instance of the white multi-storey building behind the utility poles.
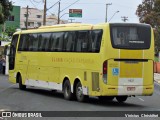
[[[27, 8], [21, 8], [20, 27], [26, 29]], [[58, 18], [55, 15], [46, 16], [46, 25], [57, 24]], [[60, 23], [67, 23], [61, 20]], [[37, 8], [28, 8], [28, 29], [37, 28], [43, 25], [43, 10]]]

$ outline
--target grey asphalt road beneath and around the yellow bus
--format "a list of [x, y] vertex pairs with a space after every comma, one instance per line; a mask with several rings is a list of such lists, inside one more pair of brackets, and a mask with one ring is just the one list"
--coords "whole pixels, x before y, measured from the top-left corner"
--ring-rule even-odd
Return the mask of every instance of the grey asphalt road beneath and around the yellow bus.
[[[51, 90], [42, 90], [40, 88], [33, 88], [33, 87], [29, 87], [25, 91], [19, 90], [17, 84], [9, 83], [8, 76], [0, 75], [0, 111], [2, 110], [160, 111], [160, 85], [158, 83], [155, 83], [155, 91], [152, 96], [130, 97], [125, 103], [122, 104], [118, 103], [116, 100], [113, 100], [113, 102], [101, 103], [97, 98], [90, 98], [86, 103], [80, 103], [77, 101], [64, 100], [63, 94], [61, 92], [53, 92]], [[63, 119], [72, 120], [74, 118], [65, 117]], [[92, 120], [92, 118], [90, 117], [85, 119]], [[103, 118], [98, 118], [98, 117], [94, 119], [103, 120]], [[150, 120], [150, 118], [148, 118], [148, 120]]]

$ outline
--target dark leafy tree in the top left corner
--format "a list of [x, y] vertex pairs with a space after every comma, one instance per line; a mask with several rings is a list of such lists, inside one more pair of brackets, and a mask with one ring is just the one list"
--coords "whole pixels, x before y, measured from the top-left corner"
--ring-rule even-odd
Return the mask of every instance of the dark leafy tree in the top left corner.
[[0, 24], [3, 24], [8, 19], [12, 9], [12, 2], [9, 0], [0, 0]]

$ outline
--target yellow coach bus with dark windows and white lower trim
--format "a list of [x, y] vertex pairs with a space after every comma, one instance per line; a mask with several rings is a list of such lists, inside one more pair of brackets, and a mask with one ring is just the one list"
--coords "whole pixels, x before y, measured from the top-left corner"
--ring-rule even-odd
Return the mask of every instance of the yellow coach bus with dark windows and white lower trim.
[[44, 26], [13, 35], [9, 80], [22, 90], [61, 90], [67, 100], [96, 96], [124, 102], [153, 94], [153, 59], [153, 30], [147, 24]]

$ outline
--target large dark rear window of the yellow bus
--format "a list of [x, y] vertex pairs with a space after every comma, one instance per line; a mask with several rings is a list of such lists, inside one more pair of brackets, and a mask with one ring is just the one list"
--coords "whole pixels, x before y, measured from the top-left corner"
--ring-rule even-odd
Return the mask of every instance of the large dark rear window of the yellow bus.
[[118, 49], [149, 49], [151, 27], [138, 24], [111, 24], [111, 42]]

